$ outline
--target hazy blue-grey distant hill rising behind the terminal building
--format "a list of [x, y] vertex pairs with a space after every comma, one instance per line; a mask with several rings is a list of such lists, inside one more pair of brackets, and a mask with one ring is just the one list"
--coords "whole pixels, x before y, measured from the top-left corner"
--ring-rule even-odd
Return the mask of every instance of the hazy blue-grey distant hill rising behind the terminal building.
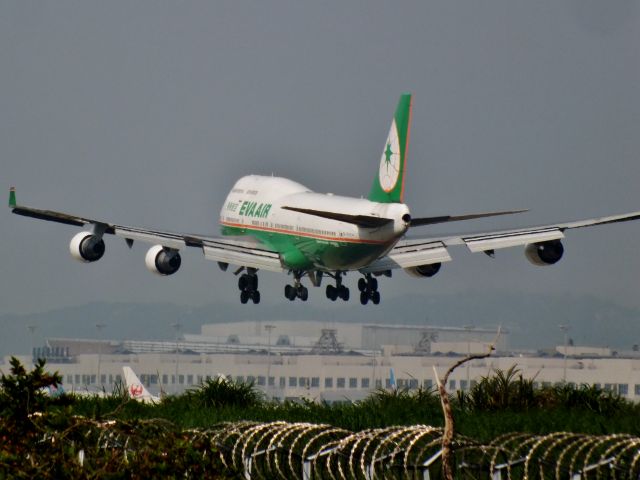
[[[441, 326], [476, 325], [511, 332], [514, 348], [544, 348], [562, 343], [559, 324], [571, 325], [576, 344], [631, 349], [640, 343], [640, 309], [588, 296], [503, 294], [417, 296], [384, 299], [378, 306], [356, 302], [217, 303], [191, 308], [173, 304], [90, 303], [31, 315], [0, 315], [0, 355], [24, 354], [45, 337], [174, 339], [172, 324], [197, 333], [206, 323], [228, 321], [319, 320]], [[98, 334], [96, 324], [105, 327]], [[33, 337], [27, 328], [34, 325]]]

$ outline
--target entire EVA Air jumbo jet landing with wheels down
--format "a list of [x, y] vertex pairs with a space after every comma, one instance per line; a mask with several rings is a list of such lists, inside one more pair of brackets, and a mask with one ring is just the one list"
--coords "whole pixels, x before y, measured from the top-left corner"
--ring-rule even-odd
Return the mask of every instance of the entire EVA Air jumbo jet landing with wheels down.
[[71, 255], [81, 262], [95, 262], [105, 252], [105, 235], [153, 244], [148, 250], [147, 268], [158, 275], [172, 275], [181, 265], [180, 251], [201, 250], [204, 258], [218, 262], [222, 270], [235, 265], [240, 301], [260, 302], [258, 272], [284, 272], [293, 277], [284, 288], [289, 300], [306, 301], [306, 277], [319, 287], [323, 277], [332, 301], [349, 300], [343, 284], [347, 272], [362, 275], [358, 280], [360, 302], [380, 302], [376, 277], [391, 276], [403, 269], [414, 277], [432, 277], [451, 260], [449, 248], [466, 246], [472, 252], [493, 256], [500, 248], [524, 246], [534, 265], [552, 265], [562, 257], [561, 243], [567, 230], [640, 218], [640, 212], [558, 223], [530, 228], [465, 235], [409, 239], [411, 228], [436, 223], [471, 220], [519, 213], [522, 210], [477, 213], [461, 216], [413, 218], [403, 203], [406, 158], [411, 123], [411, 95], [400, 97], [391, 129], [384, 144], [373, 186], [366, 199], [315, 193], [292, 180], [249, 175], [240, 178], [220, 211], [222, 236], [208, 237], [173, 233], [143, 227], [128, 227], [104, 220], [79, 217], [16, 203], [11, 189], [13, 213], [81, 227], [69, 245]]

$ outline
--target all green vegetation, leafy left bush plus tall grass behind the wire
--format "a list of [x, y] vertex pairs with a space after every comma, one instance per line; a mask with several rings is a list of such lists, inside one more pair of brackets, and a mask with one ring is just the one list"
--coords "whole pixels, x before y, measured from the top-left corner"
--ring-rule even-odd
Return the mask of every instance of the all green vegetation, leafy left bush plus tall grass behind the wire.
[[[354, 403], [279, 403], [252, 385], [213, 379], [149, 405], [129, 400], [123, 388], [105, 398], [49, 395], [47, 387], [59, 383], [57, 373], [45, 372], [44, 361], [27, 372], [12, 359], [11, 374], [0, 379], [0, 479], [79, 472], [199, 477], [205, 471], [208, 478], [222, 478], [212, 472], [228, 470], [221, 470], [218, 447], [203, 432], [223, 422], [308, 422], [351, 432], [443, 424], [436, 393], [423, 389], [379, 390]], [[640, 405], [588, 386], [535, 389], [515, 367], [495, 371], [451, 400], [457, 433], [485, 444], [512, 432], [640, 435]], [[71, 466], [54, 467], [65, 462]]]

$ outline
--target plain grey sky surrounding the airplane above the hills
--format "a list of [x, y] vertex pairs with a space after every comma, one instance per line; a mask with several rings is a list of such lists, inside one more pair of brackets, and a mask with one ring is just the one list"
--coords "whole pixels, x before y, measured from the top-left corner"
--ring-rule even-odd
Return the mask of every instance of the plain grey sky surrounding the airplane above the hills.
[[[414, 216], [531, 209], [462, 227], [484, 231], [640, 210], [639, 15], [634, 0], [5, 1], [0, 183], [26, 205], [217, 233], [245, 174], [366, 194], [411, 91]], [[142, 244], [109, 238], [82, 265], [73, 228], [4, 209], [0, 229], [0, 313], [237, 301], [236, 279], [196, 250], [158, 278]], [[453, 250], [432, 279], [382, 280], [380, 308], [402, 292], [501, 291], [640, 306], [639, 241], [640, 222], [573, 231], [550, 268], [521, 249]], [[283, 302], [286, 281], [263, 274], [263, 302]]]

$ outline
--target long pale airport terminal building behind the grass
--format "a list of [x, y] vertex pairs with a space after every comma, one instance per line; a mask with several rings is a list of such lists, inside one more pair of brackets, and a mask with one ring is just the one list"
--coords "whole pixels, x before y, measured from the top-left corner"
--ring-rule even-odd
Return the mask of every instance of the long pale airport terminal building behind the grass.
[[[391, 386], [433, 388], [436, 375], [463, 356], [491, 357], [459, 367], [450, 392], [467, 390], [493, 370], [516, 366], [540, 385], [597, 385], [640, 400], [640, 352], [562, 345], [551, 351], [508, 349], [508, 332], [417, 325], [322, 322], [236, 322], [203, 325], [200, 334], [174, 341], [109, 341], [50, 338], [34, 348], [63, 378], [66, 391], [110, 392], [129, 365], [153, 394], [180, 393], [218, 375], [251, 382], [279, 400], [353, 401]], [[6, 370], [8, 358], [0, 368]]]

